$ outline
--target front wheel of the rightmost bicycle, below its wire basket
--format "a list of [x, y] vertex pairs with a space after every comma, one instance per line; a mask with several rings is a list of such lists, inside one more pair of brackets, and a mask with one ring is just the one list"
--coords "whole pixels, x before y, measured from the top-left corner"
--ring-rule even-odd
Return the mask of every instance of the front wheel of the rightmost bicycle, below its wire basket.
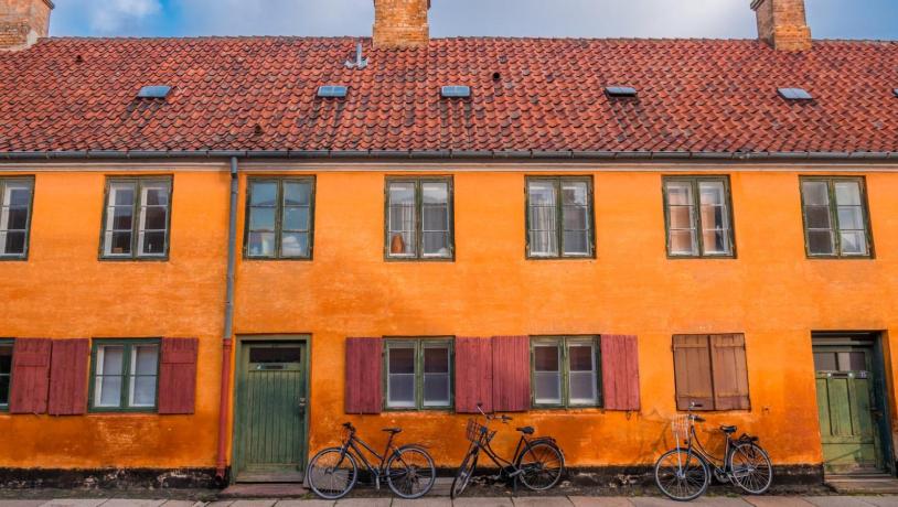
[[674, 449], [655, 463], [655, 484], [667, 498], [688, 501], [705, 494], [710, 484], [708, 465], [697, 454]]

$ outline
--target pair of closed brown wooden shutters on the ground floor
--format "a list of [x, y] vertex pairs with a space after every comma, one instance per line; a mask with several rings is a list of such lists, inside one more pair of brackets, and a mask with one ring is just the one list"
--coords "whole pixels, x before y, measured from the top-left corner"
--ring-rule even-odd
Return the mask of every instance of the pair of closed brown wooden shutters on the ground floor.
[[744, 335], [675, 335], [673, 350], [677, 410], [751, 408]]

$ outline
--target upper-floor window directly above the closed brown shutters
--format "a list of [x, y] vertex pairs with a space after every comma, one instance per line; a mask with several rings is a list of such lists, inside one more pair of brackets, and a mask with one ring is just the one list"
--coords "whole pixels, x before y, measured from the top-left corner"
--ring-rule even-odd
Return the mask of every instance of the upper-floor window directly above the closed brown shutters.
[[664, 206], [669, 256], [734, 256], [728, 177], [665, 177]]

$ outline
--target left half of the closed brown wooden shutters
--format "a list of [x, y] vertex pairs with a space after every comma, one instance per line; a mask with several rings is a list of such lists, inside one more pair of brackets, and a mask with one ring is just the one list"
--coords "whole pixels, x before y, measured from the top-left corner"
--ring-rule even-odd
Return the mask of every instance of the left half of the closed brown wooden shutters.
[[714, 410], [714, 387], [710, 376], [710, 352], [707, 335], [674, 335], [674, 377], [676, 408]]

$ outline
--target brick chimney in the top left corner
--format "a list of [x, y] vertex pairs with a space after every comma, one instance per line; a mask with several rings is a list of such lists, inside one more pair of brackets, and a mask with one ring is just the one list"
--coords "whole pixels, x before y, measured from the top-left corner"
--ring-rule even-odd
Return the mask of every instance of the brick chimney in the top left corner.
[[0, 51], [23, 50], [50, 31], [51, 0], [0, 0]]

